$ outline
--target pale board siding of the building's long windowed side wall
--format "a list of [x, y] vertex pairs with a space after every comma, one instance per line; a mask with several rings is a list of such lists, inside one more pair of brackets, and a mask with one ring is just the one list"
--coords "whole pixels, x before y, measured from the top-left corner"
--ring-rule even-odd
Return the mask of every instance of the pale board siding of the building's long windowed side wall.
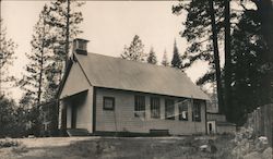
[[[149, 133], [150, 130], [169, 130], [174, 135], [189, 135], [195, 133], [205, 133], [205, 106], [201, 107], [201, 122], [192, 122], [191, 107], [189, 108], [189, 121], [179, 121], [178, 119], [178, 98], [175, 100], [175, 120], [165, 120], [165, 96], [145, 96], [145, 118], [134, 117], [134, 94], [132, 91], [97, 88], [96, 91], [96, 131], [105, 132], [134, 132]], [[103, 97], [115, 98], [115, 111], [103, 109]], [[151, 118], [150, 97], [158, 97], [161, 102], [161, 119]]]

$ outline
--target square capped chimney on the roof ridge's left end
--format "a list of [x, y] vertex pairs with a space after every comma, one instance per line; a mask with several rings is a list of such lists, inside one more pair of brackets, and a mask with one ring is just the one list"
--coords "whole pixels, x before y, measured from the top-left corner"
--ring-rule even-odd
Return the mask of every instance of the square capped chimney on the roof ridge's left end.
[[73, 40], [73, 53], [87, 54], [87, 42], [86, 39], [75, 38]]

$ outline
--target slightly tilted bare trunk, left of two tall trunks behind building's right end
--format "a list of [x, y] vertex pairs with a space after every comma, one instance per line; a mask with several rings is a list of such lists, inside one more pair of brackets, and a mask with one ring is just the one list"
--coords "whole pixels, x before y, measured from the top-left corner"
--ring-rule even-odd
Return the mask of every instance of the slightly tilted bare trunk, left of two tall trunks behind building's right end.
[[218, 110], [219, 110], [219, 113], [223, 113], [224, 101], [223, 101], [223, 90], [222, 90], [222, 82], [221, 82], [218, 38], [217, 38], [213, 0], [210, 0], [210, 15], [211, 15], [211, 25], [212, 25], [214, 64], [215, 64], [215, 70], [216, 70]]

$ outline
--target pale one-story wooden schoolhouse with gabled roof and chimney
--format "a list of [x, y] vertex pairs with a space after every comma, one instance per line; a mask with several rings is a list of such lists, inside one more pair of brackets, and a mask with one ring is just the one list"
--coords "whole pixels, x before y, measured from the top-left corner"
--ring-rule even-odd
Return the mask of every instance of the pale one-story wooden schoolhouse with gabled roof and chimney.
[[179, 69], [87, 52], [74, 39], [59, 88], [59, 129], [90, 134], [206, 133], [204, 94]]

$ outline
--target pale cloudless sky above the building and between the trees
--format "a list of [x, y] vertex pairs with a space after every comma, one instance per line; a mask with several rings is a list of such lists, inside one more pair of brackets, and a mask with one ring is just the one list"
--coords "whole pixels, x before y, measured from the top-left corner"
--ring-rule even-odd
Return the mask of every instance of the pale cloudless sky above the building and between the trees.
[[[49, 1], [1, 1], [1, 19], [7, 27], [8, 38], [16, 44], [16, 60], [10, 69], [11, 74], [22, 77], [27, 63], [25, 52], [31, 52], [33, 27], [38, 21], [38, 14]], [[183, 30], [182, 22], [186, 14], [179, 16], [171, 13], [176, 1], [86, 1], [81, 7], [83, 23], [80, 38], [90, 40], [88, 52], [119, 57], [124, 45], [129, 46], [134, 35], [139, 35], [149, 52], [153, 47], [161, 62], [166, 49], [168, 60], [171, 60], [174, 41], [182, 54], [187, 41], [179, 35]], [[72, 9], [73, 10], [73, 9]], [[195, 63], [186, 71], [195, 82], [207, 71], [203, 63]], [[22, 91], [19, 88], [8, 90], [10, 96], [19, 99]]]

